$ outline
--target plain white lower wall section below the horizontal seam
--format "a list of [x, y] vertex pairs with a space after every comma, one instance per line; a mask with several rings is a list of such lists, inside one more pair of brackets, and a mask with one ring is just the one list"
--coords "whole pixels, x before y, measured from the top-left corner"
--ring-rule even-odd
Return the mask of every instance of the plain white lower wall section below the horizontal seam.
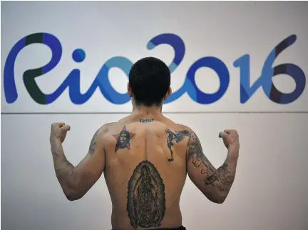
[[[2, 115], [1, 227], [111, 229], [111, 200], [103, 178], [80, 201], [67, 201], [62, 194], [53, 172], [48, 131], [53, 121], [71, 125], [64, 148], [77, 164], [97, 126], [120, 117]], [[235, 127], [240, 133], [237, 177], [224, 204], [207, 201], [187, 179], [180, 206], [188, 229], [307, 229], [308, 142], [302, 129], [307, 114], [173, 114], [170, 118], [195, 129], [215, 166], [223, 163], [226, 153], [218, 131]]]

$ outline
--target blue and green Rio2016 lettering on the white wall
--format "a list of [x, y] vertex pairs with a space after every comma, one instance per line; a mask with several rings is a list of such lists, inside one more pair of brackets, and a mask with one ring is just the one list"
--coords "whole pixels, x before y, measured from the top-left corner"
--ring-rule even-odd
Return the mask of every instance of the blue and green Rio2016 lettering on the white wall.
[[[265, 95], [277, 104], [289, 104], [299, 98], [302, 92], [304, 91], [306, 85], [306, 76], [302, 69], [295, 64], [280, 64], [274, 66], [274, 60], [277, 56], [287, 47], [294, 44], [297, 36], [291, 35], [286, 39], [277, 44], [270, 54], [267, 56], [265, 63], [262, 67], [260, 77], [255, 81], [254, 84], [250, 86], [250, 55], [245, 54], [239, 59], [235, 60], [233, 65], [237, 68], [240, 68], [240, 102], [244, 104], [250, 97], [262, 87]], [[37, 33], [30, 34], [20, 39], [11, 49], [9, 55], [6, 59], [4, 66], [4, 94], [6, 102], [11, 104], [16, 101], [18, 98], [18, 93], [16, 90], [15, 84], [15, 75], [14, 67], [16, 57], [19, 52], [24, 49], [24, 47], [30, 44], [45, 44], [52, 51], [51, 60], [45, 66], [42, 66], [37, 69], [26, 70], [23, 74], [24, 85], [26, 86], [27, 91], [30, 96], [38, 104], [51, 104], [53, 101], [56, 101], [63, 91], [68, 87], [69, 96], [73, 104], [84, 104], [88, 99], [91, 98], [94, 91], [97, 87], [101, 90], [103, 96], [113, 104], [125, 104], [130, 101], [130, 97], [127, 93], [120, 94], [118, 91], [113, 89], [111, 83], [108, 79], [108, 71], [111, 68], [121, 69], [126, 76], [128, 76], [129, 71], [133, 63], [123, 57], [115, 56], [111, 59], [108, 59], [105, 64], [101, 67], [101, 70], [98, 72], [96, 79], [91, 84], [88, 91], [85, 94], [81, 94], [80, 91], [80, 78], [81, 72], [79, 69], [73, 69], [70, 74], [66, 77], [63, 83], [58, 86], [58, 89], [53, 91], [52, 94], [43, 94], [39, 86], [36, 84], [35, 78], [43, 74], [48, 73], [53, 68], [57, 66], [62, 56], [62, 46], [61, 42], [48, 33]], [[156, 46], [161, 44], [168, 44], [174, 49], [174, 58], [172, 63], [169, 65], [171, 73], [178, 68], [180, 63], [183, 61], [185, 55], [185, 44], [184, 41], [175, 34], [160, 34], [155, 36], [153, 39], [148, 41], [148, 49], [154, 49]], [[73, 60], [76, 62], [81, 62], [86, 58], [86, 53], [82, 49], [76, 49], [73, 51]], [[197, 88], [195, 82], [195, 73], [197, 69], [201, 67], [207, 67], [214, 70], [220, 79], [220, 87], [214, 94], [205, 94]], [[274, 84], [272, 83], [272, 77], [278, 74], [286, 74], [295, 81], [295, 89], [289, 94], [284, 94], [279, 91]], [[230, 74], [227, 66], [218, 58], [213, 56], [205, 56], [190, 66], [186, 74], [185, 83], [183, 86], [170, 95], [168, 100], [165, 103], [170, 103], [177, 100], [185, 94], [188, 93], [191, 99], [196, 101], [199, 104], [212, 104], [215, 101], [219, 100], [227, 91], [230, 83]]]

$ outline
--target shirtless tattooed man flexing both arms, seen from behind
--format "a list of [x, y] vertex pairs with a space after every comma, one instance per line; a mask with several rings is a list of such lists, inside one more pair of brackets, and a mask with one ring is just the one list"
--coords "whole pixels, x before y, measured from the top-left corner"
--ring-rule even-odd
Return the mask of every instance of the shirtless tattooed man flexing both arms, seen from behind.
[[77, 166], [64, 155], [70, 126], [51, 126], [56, 176], [67, 199], [81, 199], [104, 172], [113, 205], [113, 229], [185, 229], [180, 195], [186, 174], [210, 201], [225, 201], [235, 179], [240, 144], [237, 131], [220, 133], [227, 159], [218, 169], [207, 160], [195, 132], [163, 116], [171, 94], [170, 71], [163, 61], [137, 61], [129, 74], [133, 112], [101, 126], [88, 154]]

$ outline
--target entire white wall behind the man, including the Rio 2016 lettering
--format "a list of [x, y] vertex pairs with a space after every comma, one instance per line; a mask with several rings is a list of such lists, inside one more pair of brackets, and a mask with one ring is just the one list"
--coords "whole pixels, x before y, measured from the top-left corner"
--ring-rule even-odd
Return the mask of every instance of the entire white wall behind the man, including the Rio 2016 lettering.
[[188, 229], [308, 229], [307, 2], [1, 2], [1, 227], [111, 229], [103, 177], [68, 201], [53, 171], [52, 122], [71, 125], [73, 164], [93, 133], [131, 111], [131, 65], [170, 66], [163, 112], [190, 126], [215, 166], [219, 131], [237, 129], [240, 158], [224, 204], [187, 179]]

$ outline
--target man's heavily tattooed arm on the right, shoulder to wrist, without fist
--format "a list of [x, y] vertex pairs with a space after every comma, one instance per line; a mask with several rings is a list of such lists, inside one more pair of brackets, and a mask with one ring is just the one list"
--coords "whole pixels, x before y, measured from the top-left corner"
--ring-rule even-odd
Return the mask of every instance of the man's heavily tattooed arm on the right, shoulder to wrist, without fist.
[[203, 154], [200, 141], [190, 129], [187, 149], [187, 170], [191, 181], [212, 202], [222, 204], [235, 179], [238, 149], [229, 147], [227, 159], [220, 168], [215, 169]]

